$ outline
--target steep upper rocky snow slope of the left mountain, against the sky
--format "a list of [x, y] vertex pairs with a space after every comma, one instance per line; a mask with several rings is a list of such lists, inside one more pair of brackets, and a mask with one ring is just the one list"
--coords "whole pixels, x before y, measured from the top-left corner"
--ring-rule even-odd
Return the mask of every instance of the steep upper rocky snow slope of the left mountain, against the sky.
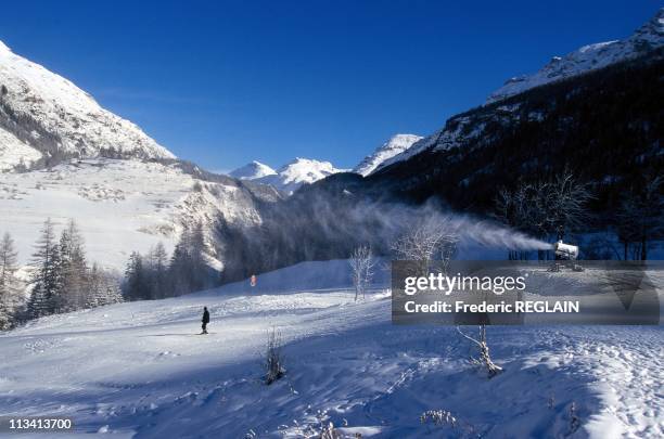
[[0, 170], [46, 156], [174, 158], [69, 80], [0, 42]]

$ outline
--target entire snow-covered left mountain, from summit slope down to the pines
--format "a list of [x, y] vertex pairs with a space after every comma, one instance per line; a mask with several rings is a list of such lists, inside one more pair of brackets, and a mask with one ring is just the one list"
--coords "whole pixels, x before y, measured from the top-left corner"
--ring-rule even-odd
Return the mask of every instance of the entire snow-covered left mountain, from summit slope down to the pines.
[[[67, 79], [0, 43], [0, 232], [13, 236], [22, 263], [47, 218], [56, 231], [74, 219], [90, 259], [122, 269], [131, 251], [159, 241], [170, 248], [196, 222], [207, 230], [219, 216], [259, 222], [255, 201], [264, 192], [176, 159]], [[222, 266], [212, 245], [209, 256]]]

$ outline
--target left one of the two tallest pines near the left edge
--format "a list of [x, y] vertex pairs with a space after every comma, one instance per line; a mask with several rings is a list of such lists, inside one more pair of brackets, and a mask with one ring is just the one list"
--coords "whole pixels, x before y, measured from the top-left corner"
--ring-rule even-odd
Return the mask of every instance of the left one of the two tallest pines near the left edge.
[[58, 246], [51, 219], [47, 219], [41, 229], [41, 236], [35, 245], [33, 255], [33, 289], [28, 301], [28, 317], [33, 319], [49, 315], [56, 310], [58, 290]]

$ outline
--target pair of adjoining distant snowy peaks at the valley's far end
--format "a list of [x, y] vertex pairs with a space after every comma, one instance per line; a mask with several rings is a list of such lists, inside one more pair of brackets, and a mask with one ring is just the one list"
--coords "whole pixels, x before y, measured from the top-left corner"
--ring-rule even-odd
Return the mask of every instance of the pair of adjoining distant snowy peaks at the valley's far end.
[[229, 176], [269, 184], [279, 192], [291, 195], [303, 184], [311, 184], [333, 173], [345, 171], [335, 168], [330, 162], [297, 157], [277, 171], [259, 162], [252, 162], [230, 172]]

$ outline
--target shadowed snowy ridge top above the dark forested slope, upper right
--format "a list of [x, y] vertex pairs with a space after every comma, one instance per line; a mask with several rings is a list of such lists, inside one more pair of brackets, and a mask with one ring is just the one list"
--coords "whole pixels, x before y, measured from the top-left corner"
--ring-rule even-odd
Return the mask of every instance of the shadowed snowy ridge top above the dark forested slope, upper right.
[[554, 56], [539, 72], [508, 80], [487, 99], [487, 103], [519, 94], [533, 87], [559, 81], [589, 70], [605, 67], [624, 60], [642, 55], [664, 46], [664, 8], [654, 17], [625, 40], [584, 46], [566, 54]]

